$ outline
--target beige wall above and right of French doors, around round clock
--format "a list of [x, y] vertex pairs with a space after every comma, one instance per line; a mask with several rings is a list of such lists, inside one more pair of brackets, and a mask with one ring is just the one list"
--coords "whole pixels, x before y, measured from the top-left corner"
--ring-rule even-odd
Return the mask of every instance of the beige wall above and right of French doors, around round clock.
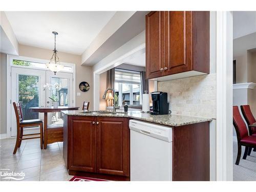
[[[58, 52], [60, 62], [70, 62], [76, 64], [76, 93], [81, 93], [80, 96], [76, 96], [76, 106], [82, 107], [83, 101], [90, 101], [90, 109], [93, 109], [93, 73], [92, 67], [81, 66], [81, 56], [73, 55], [69, 53]], [[33, 57], [39, 59], [49, 60], [52, 55], [52, 50], [41, 49], [31, 46], [19, 45], [19, 55], [26, 57]], [[90, 84], [90, 90], [87, 92], [81, 92], [79, 90], [79, 83], [81, 81], [87, 81]], [[77, 94], [76, 94], [77, 95]]]

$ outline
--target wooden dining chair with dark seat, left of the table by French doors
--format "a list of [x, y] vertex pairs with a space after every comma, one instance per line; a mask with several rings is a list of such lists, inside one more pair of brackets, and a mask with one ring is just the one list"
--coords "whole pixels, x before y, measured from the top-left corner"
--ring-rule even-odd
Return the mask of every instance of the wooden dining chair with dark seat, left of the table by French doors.
[[[23, 119], [23, 112], [22, 112], [22, 105], [21, 105], [20, 102], [13, 102], [13, 107], [14, 107], [15, 116], [16, 116], [16, 123], [17, 123], [17, 137], [16, 137], [16, 144], [15, 144], [15, 147], [14, 147], [13, 154], [16, 154], [17, 148], [19, 148], [20, 145], [22, 144], [22, 140], [26, 140], [26, 139], [40, 138], [40, 146], [41, 146], [41, 149], [42, 149], [42, 142], [43, 142], [42, 120], [41, 119], [24, 120]], [[40, 133], [26, 134], [26, 135], [23, 134], [24, 129], [29, 128], [29, 127], [35, 127], [35, 126], [40, 127]], [[38, 136], [38, 137], [23, 138], [23, 136], [31, 136], [31, 135], [39, 135], [39, 134], [40, 134], [40, 136]]]

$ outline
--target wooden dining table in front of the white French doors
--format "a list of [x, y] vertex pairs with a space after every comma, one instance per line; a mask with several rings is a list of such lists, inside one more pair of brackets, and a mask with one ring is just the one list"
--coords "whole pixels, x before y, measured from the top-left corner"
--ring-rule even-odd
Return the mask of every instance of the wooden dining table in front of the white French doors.
[[66, 110], [78, 110], [79, 107], [77, 106], [58, 106], [58, 107], [43, 107], [43, 106], [39, 106], [39, 107], [34, 107], [34, 108], [29, 108], [31, 112], [36, 112], [36, 113], [44, 113], [44, 149], [47, 148], [47, 144], [48, 144], [48, 117], [47, 114], [48, 113], [52, 113], [52, 112], [60, 112], [60, 111], [66, 111]]

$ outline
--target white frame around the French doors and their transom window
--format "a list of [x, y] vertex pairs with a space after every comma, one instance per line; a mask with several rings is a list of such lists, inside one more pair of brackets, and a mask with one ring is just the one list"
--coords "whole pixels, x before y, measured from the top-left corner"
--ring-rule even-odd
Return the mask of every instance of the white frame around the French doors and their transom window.
[[[31, 62], [40, 62], [40, 63], [47, 63], [49, 60], [46, 59], [38, 59], [38, 58], [33, 58], [33, 57], [24, 57], [24, 56], [15, 56], [15, 55], [7, 55], [7, 69], [6, 69], [6, 101], [7, 101], [7, 106], [6, 106], [6, 112], [7, 112], [7, 119], [6, 119], [6, 134], [7, 138], [11, 137], [11, 107], [12, 107], [12, 101], [11, 101], [11, 89], [8, 89], [11, 87], [11, 68], [26, 68], [26, 69], [36, 69], [36, 70], [42, 70], [42, 71], [50, 71], [49, 69], [42, 69], [42, 68], [36, 68], [36, 67], [31, 67], [31, 66], [16, 66], [12, 64], [12, 61], [16, 60], [24, 60], [24, 61], [31, 61]], [[72, 73], [73, 74], [73, 99], [74, 99], [74, 105], [76, 104], [76, 64], [75, 63], [69, 63], [69, 62], [60, 62], [61, 65], [63, 66], [69, 66], [72, 67], [72, 72], [67, 72], [67, 71], [60, 71], [64, 73]]]

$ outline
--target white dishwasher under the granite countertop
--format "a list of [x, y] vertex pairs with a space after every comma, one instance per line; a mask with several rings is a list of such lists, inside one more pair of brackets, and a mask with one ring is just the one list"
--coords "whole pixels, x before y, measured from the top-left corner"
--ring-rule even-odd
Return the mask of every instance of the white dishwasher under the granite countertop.
[[130, 120], [131, 181], [172, 181], [170, 127]]

